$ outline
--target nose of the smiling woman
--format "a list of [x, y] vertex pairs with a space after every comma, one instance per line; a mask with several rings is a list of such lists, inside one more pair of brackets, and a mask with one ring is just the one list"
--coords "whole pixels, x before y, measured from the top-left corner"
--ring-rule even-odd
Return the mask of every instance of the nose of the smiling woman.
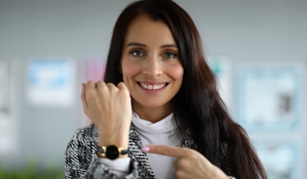
[[144, 61], [143, 73], [149, 77], [156, 77], [163, 74], [163, 66], [158, 56], [148, 57]]

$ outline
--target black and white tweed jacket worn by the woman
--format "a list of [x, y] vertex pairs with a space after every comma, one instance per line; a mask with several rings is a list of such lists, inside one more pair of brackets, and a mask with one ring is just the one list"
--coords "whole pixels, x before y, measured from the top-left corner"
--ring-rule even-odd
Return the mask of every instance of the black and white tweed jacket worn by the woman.
[[[95, 125], [78, 129], [69, 141], [65, 152], [65, 178], [156, 178], [133, 124], [129, 131], [130, 171], [125, 177], [117, 176], [102, 164], [96, 154], [99, 130]], [[186, 137], [182, 147], [195, 149], [191, 137]], [[223, 155], [227, 154], [227, 145], [221, 145]], [[230, 174], [227, 173], [226, 174]], [[230, 177], [232, 178], [232, 177]]]

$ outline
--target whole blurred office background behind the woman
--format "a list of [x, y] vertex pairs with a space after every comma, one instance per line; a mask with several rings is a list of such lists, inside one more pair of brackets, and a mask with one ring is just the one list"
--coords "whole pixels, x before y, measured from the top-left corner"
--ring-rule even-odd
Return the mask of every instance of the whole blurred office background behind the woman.
[[[63, 178], [83, 114], [132, 1], [0, 0], [0, 178]], [[269, 178], [307, 175], [307, 1], [176, 1], [194, 19], [229, 113]]]

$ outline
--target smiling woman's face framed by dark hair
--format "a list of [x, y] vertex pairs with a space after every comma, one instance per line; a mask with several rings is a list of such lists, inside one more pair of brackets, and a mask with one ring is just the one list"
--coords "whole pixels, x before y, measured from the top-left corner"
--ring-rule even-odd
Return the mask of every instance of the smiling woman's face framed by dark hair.
[[125, 36], [121, 72], [134, 111], [169, 104], [180, 89], [183, 68], [166, 24], [146, 15], [132, 21]]

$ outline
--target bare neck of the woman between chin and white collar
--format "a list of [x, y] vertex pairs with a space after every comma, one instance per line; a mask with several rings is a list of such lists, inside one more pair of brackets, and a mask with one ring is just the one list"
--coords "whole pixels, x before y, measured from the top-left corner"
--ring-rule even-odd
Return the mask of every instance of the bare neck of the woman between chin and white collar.
[[156, 123], [172, 113], [170, 104], [159, 107], [146, 107], [132, 100], [132, 109], [140, 119]]

